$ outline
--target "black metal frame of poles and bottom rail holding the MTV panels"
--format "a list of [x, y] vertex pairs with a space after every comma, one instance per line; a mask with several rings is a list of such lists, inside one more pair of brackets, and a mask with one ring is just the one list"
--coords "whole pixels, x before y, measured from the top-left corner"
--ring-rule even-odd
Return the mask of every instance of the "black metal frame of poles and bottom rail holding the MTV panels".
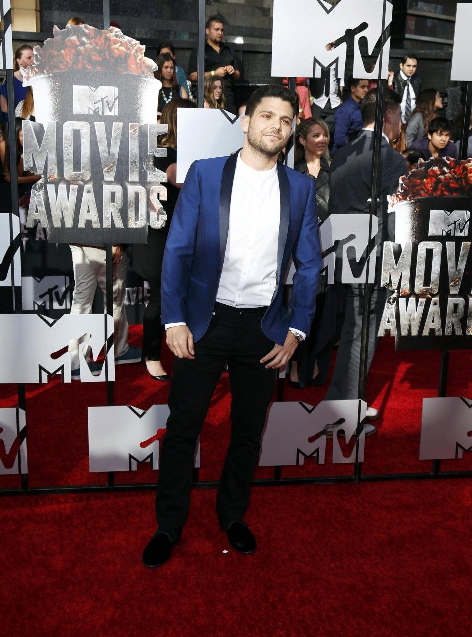
[[[379, 0], [380, 1], [380, 0]], [[378, 96], [376, 101], [375, 112], [375, 134], [374, 134], [374, 150], [372, 159], [372, 182], [371, 182], [371, 204], [370, 211], [372, 215], [376, 214], [377, 193], [380, 186], [380, 146], [382, 140], [382, 103], [384, 95], [384, 83], [382, 77], [382, 55], [383, 45], [388, 38], [388, 29], [385, 29], [385, 13], [386, 5], [389, 0], [383, 2], [383, 36], [382, 48], [379, 57], [379, 73], [378, 73]], [[3, 7], [3, 0], [0, 0]], [[11, 15], [5, 19], [5, 30], [11, 28]], [[198, 73], [198, 89], [197, 89], [197, 105], [203, 108], [203, 77], [204, 77], [204, 46], [205, 46], [205, 1], [199, 0], [199, 38], [197, 53], [197, 73]], [[110, 26], [110, 0], [103, 0], [103, 26]], [[30, 34], [31, 36], [31, 34]], [[4, 62], [5, 64], [5, 62]], [[6, 64], [5, 64], [6, 66]], [[7, 69], [7, 81], [9, 86], [13, 86], [13, 70]], [[295, 78], [289, 78], [289, 87], [294, 90]], [[464, 159], [466, 156], [468, 142], [468, 125], [472, 106], [472, 82], [466, 83], [466, 105], [464, 107], [464, 122], [462, 125], [461, 143], [459, 147], [459, 156]], [[8, 120], [9, 120], [9, 141], [10, 141], [10, 164], [11, 164], [11, 203], [13, 210], [18, 210], [18, 183], [17, 183], [17, 156], [16, 156], [16, 140], [15, 140], [15, 104], [13, 90], [8, 92]], [[13, 124], [13, 126], [11, 125]], [[369, 228], [371, 230], [371, 228]], [[369, 232], [370, 236], [370, 232]], [[13, 241], [13, 227], [10, 228], [10, 238]], [[13, 268], [13, 266], [12, 266]], [[113, 270], [112, 270], [112, 246], [106, 245], [106, 313], [113, 316]], [[369, 329], [369, 302], [371, 285], [368, 281], [368, 268], [366, 268], [366, 285], [364, 294], [364, 314], [362, 317], [362, 341], [361, 341], [361, 364], [359, 366], [359, 393], [358, 397], [364, 399], [367, 378], [367, 343]], [[12, 280], [13, 306], [15, 311], [21, 313], [21, 303], [15, 302], [15, 285], [14, 278]], [[113, 336], [107, 342], [112, 341]], [[449, 352], [444, 351], [441, 355], [441, 371], [438, 396], [447, 395], [447, 373], [448, 373]], [[114, 404], [114, 382], [108, 380], [108, 363], [106, 363], [106, 383], [107, 383], [107, 404]], [[283, 378], [277, 379], [277, 401], [283, 401]], [[18, 385], [18, 408], [25, 410], [26, 397], [25, 385]], [[359, 434], [360, 432], [357, 432]], [[359, 436], [357, 436], [359, 438]], [[362, 462], [357, 460], [359, 453], [359, 441], [356, 443], [356, 461], [354, 462], [354, 471], [352, 475], [343, 476], [311, 476], [300, 478], [283, 478], [283, 468], [274, 467], [274, 477], [263, 480], [254, 480], [253, 485], [258, 487], [267, 486], [287, 486], [302, 484], [336, 484], [336, 483], [359, 483], [359, 482], [391, 482], [392, 480], [431, 480], [443, 478], [471, 478], [472, 471], [441, 471], [440, 461], [432, 462], [430, 472], [405, 472], [405, 473], [385, 473], [385, 474], [362, 474]], [[115, 473], [108, 473], [108, 481], [106, 485], [78, 485], [74, 487], [29, 487], [28, 475], [20, 473], [21, 487], [19, 489], [0, 489], [0, 496], [9, 495], [26, 495], [26, 494], [58, 494], [58, 493], [89, 493], [89, 492], [124, 492], [131, 490], [150, 490], [155, 489], [155, 483], [132, 483], [132, 484], [116, 484]], [[193, 487], [195, 489], [213, 489], [218, 485], [217, 481], [201, 482], [199, 480], [199, 471], [194, 469]]]

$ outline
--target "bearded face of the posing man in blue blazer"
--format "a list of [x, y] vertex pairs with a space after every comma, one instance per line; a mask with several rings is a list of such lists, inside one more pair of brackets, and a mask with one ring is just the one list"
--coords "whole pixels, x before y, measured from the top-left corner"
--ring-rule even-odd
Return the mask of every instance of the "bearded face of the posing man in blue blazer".
[[251, 117], [245, 115], [241, 120], [248, 145], [265, 157], [278, 155], [292, 133], [293, 117], [289, 102], [280, 97], [264, 97]]

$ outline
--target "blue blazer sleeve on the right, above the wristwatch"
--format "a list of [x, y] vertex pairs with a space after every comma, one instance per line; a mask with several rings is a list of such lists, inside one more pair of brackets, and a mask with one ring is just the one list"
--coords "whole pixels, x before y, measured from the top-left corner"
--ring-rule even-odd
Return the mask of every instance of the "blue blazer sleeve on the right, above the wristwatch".
[[315, 315], [318, 280], [321, 271], [321, 246], [315, 184], [311, 180], [299, 235], [292, 252], [295, 274], [290, 297], [290, 327], [310, 332]]

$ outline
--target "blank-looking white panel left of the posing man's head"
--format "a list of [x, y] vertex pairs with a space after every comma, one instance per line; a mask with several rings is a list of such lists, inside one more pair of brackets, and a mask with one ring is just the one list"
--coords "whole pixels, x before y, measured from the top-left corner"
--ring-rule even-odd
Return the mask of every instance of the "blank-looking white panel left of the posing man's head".
[[178, 183], [197, 159], [231, 155], [244, 142], [240, 117], [222, 109], [179, 108], [177, 122]]

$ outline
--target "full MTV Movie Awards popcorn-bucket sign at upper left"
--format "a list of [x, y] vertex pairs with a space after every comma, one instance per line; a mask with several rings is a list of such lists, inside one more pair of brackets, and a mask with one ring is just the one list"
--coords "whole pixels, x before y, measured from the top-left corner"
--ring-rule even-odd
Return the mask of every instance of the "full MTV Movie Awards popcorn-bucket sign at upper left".
[[41, 223], [54, 243], [145, 243], [166, 224], [166, 173], [154, 168], [167, 127], [156, 124], [161, 82], [145, 47], [121, 31], [54, 27], [34, 47], [25, 85], [36, 122], [25, 121], [24, 166], [32, 189], [27, 227]]

